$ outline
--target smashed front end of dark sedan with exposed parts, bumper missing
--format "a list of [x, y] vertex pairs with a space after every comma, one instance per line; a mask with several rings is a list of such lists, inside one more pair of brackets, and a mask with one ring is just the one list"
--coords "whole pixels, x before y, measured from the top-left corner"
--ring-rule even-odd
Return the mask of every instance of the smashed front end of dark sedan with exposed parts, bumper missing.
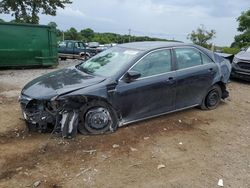
[[61, 133], [64, 138], [72, 138], [77, 133], [80, 108], [86, 99], [53, 97], [38, 100], [22, 94], [19, 102], [28, 130]]

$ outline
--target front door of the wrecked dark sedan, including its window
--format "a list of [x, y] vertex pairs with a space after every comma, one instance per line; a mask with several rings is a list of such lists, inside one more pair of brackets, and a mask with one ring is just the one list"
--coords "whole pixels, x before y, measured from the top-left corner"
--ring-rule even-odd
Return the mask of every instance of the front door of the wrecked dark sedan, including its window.
[[153, 51], [130, 70], [141, 77], [127, 83], [121, 79], [116, 87], [118, 106], [126, 122], [158, 115], [175, 108], [176, 72], [172, 68], [170, 49]]

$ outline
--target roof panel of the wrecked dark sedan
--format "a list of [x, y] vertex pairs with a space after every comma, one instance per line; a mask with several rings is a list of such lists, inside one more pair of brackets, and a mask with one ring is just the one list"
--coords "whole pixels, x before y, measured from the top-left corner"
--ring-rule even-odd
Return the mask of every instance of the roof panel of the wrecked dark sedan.
[[142, 51], [153, 50], [157, 48], [164, 48], [164, 47], [175, 47], [175, 46], [185, 46], [183, 42], [165, 42], [165, 41], [147, 41], [147, 42], [131, 42], [131, 43], [124, 43], [120, 44], [120, 47], [124, 48], [131, 48], [137, 49]]

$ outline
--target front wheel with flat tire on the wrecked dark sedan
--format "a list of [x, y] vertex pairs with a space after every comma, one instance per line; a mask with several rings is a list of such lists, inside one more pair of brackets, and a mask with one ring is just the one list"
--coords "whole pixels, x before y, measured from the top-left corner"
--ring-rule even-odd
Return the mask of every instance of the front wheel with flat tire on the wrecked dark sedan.
[[118, 128], [118, 117], [114, 109], [103, 101], [91, 101], [80, 112], [78, 131], [81, 134], [104, 134]]

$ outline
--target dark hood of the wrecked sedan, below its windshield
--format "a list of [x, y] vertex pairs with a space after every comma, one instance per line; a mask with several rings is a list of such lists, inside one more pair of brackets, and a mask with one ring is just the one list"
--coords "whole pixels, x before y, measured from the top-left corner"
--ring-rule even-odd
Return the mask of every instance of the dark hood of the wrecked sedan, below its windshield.
[[81, 72], [75, 67], [64, 68], [40, 76], [22, 90], [22, 94], [35, 99], [50, 99], [104, 81], [105, 78]]

